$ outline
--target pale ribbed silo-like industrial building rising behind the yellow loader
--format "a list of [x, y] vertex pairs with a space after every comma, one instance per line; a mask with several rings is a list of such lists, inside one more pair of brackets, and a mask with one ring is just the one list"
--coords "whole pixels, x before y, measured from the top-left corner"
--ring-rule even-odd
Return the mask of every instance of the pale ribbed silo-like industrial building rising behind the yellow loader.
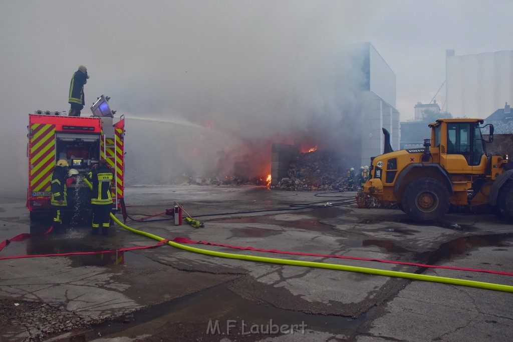
[[456, 56], [446, 53], [447, 111], [485, 118], [513, 101], [513, 50]]

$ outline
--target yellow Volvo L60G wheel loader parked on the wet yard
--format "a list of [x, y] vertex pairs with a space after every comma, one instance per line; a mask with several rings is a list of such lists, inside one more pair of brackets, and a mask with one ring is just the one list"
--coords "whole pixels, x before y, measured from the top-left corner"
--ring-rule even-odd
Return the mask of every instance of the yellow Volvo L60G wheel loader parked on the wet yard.
[[[392, 151], [385, 134], [384, 154], [371, 158], [363, 191], [384, 203], [397, 204], [417, 222], [439, 220], [450, 206], [490, 205], [513, 221], [513, 170], [507, 155], [486, 152], [494, 126], [483, 119], [438, 119], [429, 124], [424, 148]], [[488, 127], [487, 140], [481, 130]]]

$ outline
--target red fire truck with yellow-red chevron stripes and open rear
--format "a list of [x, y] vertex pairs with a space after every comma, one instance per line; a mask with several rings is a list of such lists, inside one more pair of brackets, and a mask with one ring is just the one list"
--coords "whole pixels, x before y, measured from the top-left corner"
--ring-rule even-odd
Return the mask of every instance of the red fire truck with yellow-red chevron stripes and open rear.
[[94, 164], [104, 158], [112, 169], [113, 210], [121, 208], [124, 196], [125, 118], [114, 118], [108, 100], [102, 95], [91, 107], [92, 116], [67, 116], [61, 112], [37, 110], [29, 114], [27, 208], [31, 220], [49, 216], [50, 183], [58, 159], [66, 159], [78, 171], [79, 182], [67, 191], [68, 211], [90, 214], [90, 189], [80, 183]]

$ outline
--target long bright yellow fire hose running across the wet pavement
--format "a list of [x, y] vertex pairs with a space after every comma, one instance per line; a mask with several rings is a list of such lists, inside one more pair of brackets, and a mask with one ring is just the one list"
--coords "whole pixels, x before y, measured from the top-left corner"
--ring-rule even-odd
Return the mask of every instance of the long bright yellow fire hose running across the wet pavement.
[[[91, 184], [85, 179], [87, 185], [91, 187]], [[136, 234], [144, 235], [150, 237], [152, 239], [162, 241], [165, 238], [156, 236], [151, 233], [143, 232], [141, 230], [136, 230], [126, 226], [121, 223], [119, 219], [117, 219], [114, 214], [110, 214], [112, 219], [121, 227], [125, 228], [128, 231], [131, 231]], [[281, 264], [281, 265], [291, 265], [291, 266], [302, 266], [302, 267], [315, 267], [315, 268], [325, 268], [330, 270], [339, 270], [339, 271], [349, 271], [349, 272], [358, 272], [358, 273], [367, 273], [367, 274], [377, 274], [383, 275], [387, 277], [396, 277], [396, 278], [406, 278], [406, 279], [415, 279], [422, 281], [432, 281], [433, 283], [442, 283], [442, 284], [452, 284], [452, 285], [460, 285], [460, 286], [468, 286], [475, 287], [480, 289], [488, 289], [495, 291], [503, 291], [503, 292], [513, 292], [513, 286], [509, 285], [501, 285], [494, 283], [484, 283], [482, 281], [475, 280], [466, 280], [466, 279], [457, 279], [457, 278], [447, 278], [447, 277], [439, 277], [435, 275], [426, 275], [426, 274], [416, 274], [416, 273], [407, 273], [407, 272], [399, 272], [399, 271], [388, 271], [388, 270], [380, 270], [366, 267], [357, 267], [357, 266], [347, 266], [347, 265], [337, 265], [337, 264], [327, 264], [327, 263], [318, 263], [315, 261], [300, 261], [300, 260], [288, 260], [288, 259], [279, 259], [279, 258], [269, 258], [264, 256], [252, 256], [246, 254], [232, 254], [225, 252], [216, 252], [210, 251], [206, 249], [184, 246], [172, 241], [167, 242], [168, 245], [180, 248], [189, 252], [200, 253], [205, 255], [217, 256], [222, 258], [229, 259], [239, 259], [239, 260], [248, 260], [248, 261], [259, 261], [261, 263], [270, 263], [270, 264]]]

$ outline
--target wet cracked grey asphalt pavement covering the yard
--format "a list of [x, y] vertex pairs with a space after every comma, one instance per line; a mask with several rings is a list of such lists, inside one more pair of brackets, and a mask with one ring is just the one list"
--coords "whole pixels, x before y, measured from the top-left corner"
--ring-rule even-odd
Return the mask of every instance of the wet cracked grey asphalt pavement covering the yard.
[[[205, 227], [175, 226], [166, 215], [127, 225], [168, 239], [513, 272], [512, 226], [493, 215], [453, 213], [436, 225], [419, 225], [399, 210], [288, 210], [355, 195], [315, 194], [131, 187], [125, 198], [132, 218], [165, 212], [176, 201]], [[277, 209], [287, 210], [264, 211]], [[513, 339], [513, 293], [220, 258], [168, 245], [119, 251], [157, 241], [119, 226], [109, 236], [91, 236], [87, 223], [45, 235], [47, 225], [30, 223], [23, 199], [0, 199], [0, 227], [0, 242], [33, 234], [10, 243], [0, 257], [118, 250], [0, 260], [0, 341]], [[189, 246], [513, 286], [513, 277], [502, 274]]]

